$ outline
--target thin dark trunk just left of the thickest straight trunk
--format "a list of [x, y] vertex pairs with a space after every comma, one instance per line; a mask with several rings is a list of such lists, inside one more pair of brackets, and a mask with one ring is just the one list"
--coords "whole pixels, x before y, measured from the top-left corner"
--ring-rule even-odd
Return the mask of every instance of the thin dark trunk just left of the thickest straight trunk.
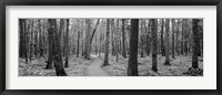
[[124, 19], [122, 19], [122, 56], [125, 59], [125, 33], [124, 33]]

